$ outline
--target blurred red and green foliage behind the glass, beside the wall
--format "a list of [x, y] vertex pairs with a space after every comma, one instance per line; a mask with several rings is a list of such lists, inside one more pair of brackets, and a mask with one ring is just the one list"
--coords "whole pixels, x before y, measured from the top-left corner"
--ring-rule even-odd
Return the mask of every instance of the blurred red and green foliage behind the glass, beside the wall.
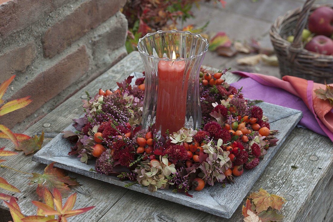
[[[184, 22], [194, 17], [191, 9], [193, 5], [198, 6], [200, 1], [202, 0], [128, 0], [123, 8], [129, 28], [126, 41], [128, 53], [136, 50], [139, 38], [147, 33], [176, 29], [179, 21]], [[213, 1], [220, 2], [224, 7], [225, 1]], [[184, 30], [189, 30], [189, 27]], [[201, 32], [202, 29], [189, 31]]]

